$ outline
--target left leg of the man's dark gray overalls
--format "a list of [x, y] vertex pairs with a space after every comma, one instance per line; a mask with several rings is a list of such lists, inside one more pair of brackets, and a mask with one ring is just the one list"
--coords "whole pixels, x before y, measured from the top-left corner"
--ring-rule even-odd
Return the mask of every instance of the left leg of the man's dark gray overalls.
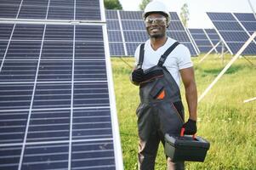
[[154, 170], [156, 153], [160, 143], [156, 128], [154, 108], [139, 105], [137, 110], [139, 129], [139, 170]]

